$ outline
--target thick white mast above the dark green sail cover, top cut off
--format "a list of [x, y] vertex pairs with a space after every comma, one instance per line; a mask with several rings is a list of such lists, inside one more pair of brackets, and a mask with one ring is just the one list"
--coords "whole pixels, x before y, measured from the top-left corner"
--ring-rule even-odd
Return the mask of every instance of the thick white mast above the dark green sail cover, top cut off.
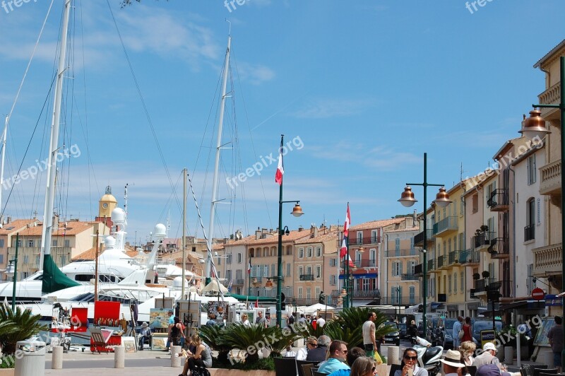
[[61, 101], [63, 98], [63, 75], [66, 71], [66, 42], [69, 28], [69, 13], [72, 0], [64, 0], [63, 27], [61, 28], [61, 44], [59, 45], [59, 66], [57, 67], [57, 83], [55, 83], [53, 120], [51, 123], [51, 141], [47, 161], [47, 189], [43, 209], [43, 228], [41, 234], [40, 270], [43, 269], [44, 254], [51, 254], [51, 232], [53, 227], [53, 210], [55, 201], [55, 175], [57, 175], [57, 153], [59, 151], [59, 121], [61, 119]]

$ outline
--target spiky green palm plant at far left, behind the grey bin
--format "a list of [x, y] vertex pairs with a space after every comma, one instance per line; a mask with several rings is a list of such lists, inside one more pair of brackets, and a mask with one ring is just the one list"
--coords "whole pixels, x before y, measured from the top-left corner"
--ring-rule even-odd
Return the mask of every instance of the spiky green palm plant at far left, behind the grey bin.
[[6, 304], [0, 305], [0, 346], [4, 355], [16, 353], [16, 343], [35, 336], [47, 326], [39, 324], [41, 315], [32, 315], [30, 310], [16, 307], [11, 310]]

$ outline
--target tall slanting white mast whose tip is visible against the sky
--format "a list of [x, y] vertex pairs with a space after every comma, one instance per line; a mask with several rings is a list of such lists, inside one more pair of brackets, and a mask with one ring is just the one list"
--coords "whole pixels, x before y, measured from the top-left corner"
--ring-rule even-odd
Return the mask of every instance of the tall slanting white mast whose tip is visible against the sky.
[[220, 148], [222, 147], [222, 128], [224, 126], [225, 109], [225, 90], [227, 86], [227, 71], [230, 66], [230, 47], [232, 45], [232, 35], [227, 36], [227, 49], [224, 61], [224, 76], [222, 79], [222, 100], [220, 102], [220, 119], [218, 121], [218, 142], [216, 143], [216, 158], [214, 163], [214, 179], [212, 183], [212, 204], [210, 205], [210, 226], [208, 227], [208, 254], [204, 266], [204, 276], [206, 284], [210, 283], [210, 266], [212, 261], [212, 238], [214, 237], [214, 217], [216, 201], [218, 201], [218, 169], [220, 168]]

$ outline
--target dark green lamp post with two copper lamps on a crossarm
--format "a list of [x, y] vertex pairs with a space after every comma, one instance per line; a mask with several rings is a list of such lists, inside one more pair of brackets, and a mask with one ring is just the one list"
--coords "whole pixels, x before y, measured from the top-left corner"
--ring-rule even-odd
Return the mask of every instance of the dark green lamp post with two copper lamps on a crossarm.
[[[405, 207], [409, 207], [414, 205], [417, 202], [417, 199], [414, 198], [414, 192], [412, 192], [412, 188], [410, 187], [410, 185], [421, 185], [422, 187], [424, 187], [424, 245], [423, 245], [423, 249], [422, 249], [422, 274], [424, 275], [423, 279], [423, 289], [422, 289], [422, 295], [423, 295], [423, 308], [422, 308], [422, 324], [424, 324], [424, 333], [426, 330], [426, 298], [427, 298], [427, 217], [426, 217], [426, 211], [427, 211], [427, 188], [428, 187], [440, 187], [439, 188], [439, 192], [438, 194], [436, 194], [436, 199], [434, 200], [434, 202], [441, 208], [445, 208], [446, 206], [448, 206], [451, 203], [451, 200], [449, 199], [449, 195], [446, 192], [446, 189], [444, 187], [444, 184], [430, 184], [428, 183], [428, 179], [427, 179], [427, 153], [424, 153], [424, 182], [423, 183], [407, 183], [406, 187], [404, 188], [404, 192], [402, 193], [402, 195], [400, 196], [400, 199], [398, 201], [400, 201], [400, 204], [403, 204], [403, 206]], [[425, 334], [424, 334], [425, 335]]]

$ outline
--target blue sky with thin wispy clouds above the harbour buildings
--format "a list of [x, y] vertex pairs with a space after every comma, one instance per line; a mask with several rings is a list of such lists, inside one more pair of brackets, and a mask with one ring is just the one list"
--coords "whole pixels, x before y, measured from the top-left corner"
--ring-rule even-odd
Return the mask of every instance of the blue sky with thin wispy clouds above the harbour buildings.
[[[50, 2], [0, 8], [3, 115], [11, 110]], [[248, 0], [235, 2], [231, 11], [212, 0], [143, 0], [123, 9], [117, 0], [109, 3], [172, 184], [107, 2], [78, 0], [61, 132], [80, 155], [61, 166], [57, 211], [67, 219], [93, 218], [105, 187], [111, 185], [123, 204], [128, 183], [132, 242], [145, 241], [168, 213], [169, 235], [180, 235], [181, 213], [171, 198], [174, 189], [182, 196], [184, 167], [208, 228], [225, 18], [232, 28], [234, 92], [224, 136], [227, 147], [239, 147], [222, 154], [218, 236], [277, 226], [276, 163], [247, 178], [234, 199], [226, 179], [276, 155], [280, 134], [301, 146], [285, 155], [284, 199], [300, 200], [306, 213], [293, 218], [292, 204], [285, 204], [283, 221], [290, 228], [341, 223], [347, 201], [353, 224], [408, 213], [396, 200], [406, 182], [422, 181], [424, 152], [432, 183], [451, 187], [461, 165], [463, 177], [484, 170], [502, 143], [518, 136], [522, 114], [544, 90], [544, 74], [533, 64], [565, 35], [565, 3], [559, 0], [492, 0], [472, 13], [460, 0]], [[47, 156], [50, 110], [42, 106], [53, 78], [62, 4], [54, 1], [13, 110], [5, 179], [20, 163], [26, 170]], [[37, 210], [42, 217], [44, 175], [16, 185], [5, 216], [25, 218]], [[414, 190], [420, 205], [422, 189]], [[3, 207], [8, 192], [3, 189]], [[428, 201], [435, 193], [429, 189]], [[191, 196], [187, 207], [187, 231], [194, 234]]]

